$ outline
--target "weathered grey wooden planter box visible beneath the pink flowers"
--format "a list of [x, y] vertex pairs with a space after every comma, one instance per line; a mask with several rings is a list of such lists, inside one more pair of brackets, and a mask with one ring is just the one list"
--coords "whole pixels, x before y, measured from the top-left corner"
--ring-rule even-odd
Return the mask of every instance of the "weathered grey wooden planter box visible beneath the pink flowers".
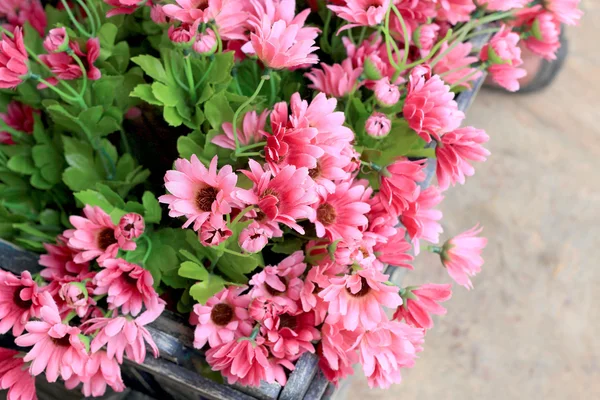
[[[459, 94], [459, 108], [465, 111], [481, 87], [483, 77], [473, 84], [470, 91]], [[428, 185], [435, 173], [435, 160], [429, 160]], [[32, 273], [40, 270], [38, 256], [0, 240], [0, 268], [20, 273], [28, 270]], [[391, 280], [399, 283], [405, 270], [388, 267]], [[214, 399], [214, 400], [319, 400], [331, 397], [334, 387], [325, 379], [317, 365], [317, 356], [304, 354], [296, 363], [296, 369], [290, 374], [285, 387], [279, 384], [263, 383], [259, 388], [218, 384], [203, 377], [199, 372], [206, 366], [202, 352], [192, 346], [193, 330], [187, 320], [171, 312], [164, 312], [148, 327], [160, 349], [160, 358], [147, 356], [143, 365], [126, 361], [122, 367], [123, 379], [128, 387], [124, 393], [109, 393], [110, 399]], [[0, 346], [13, 347], [13, 338], [0, 335]], [[68, 391], [62, 383], [49, 384], [43, 378], [38, 379], [40, 399], [76, 399], [82, 395]], [[0, 398], [1, 398], [0, 394]]]

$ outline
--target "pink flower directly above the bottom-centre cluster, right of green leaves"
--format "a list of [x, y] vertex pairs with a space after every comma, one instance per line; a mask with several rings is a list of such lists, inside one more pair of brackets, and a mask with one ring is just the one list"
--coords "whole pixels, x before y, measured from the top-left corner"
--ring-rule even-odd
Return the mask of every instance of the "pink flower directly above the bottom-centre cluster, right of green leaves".
[[287, 307], [290, 312], [296, 312], [303, 286], [299, 277], [305, 269], [304, 253], [296, 251], [277, 266], [267, 266], [252, 276], [249, 282], [250, 296], [270, 300], [281, 307]]

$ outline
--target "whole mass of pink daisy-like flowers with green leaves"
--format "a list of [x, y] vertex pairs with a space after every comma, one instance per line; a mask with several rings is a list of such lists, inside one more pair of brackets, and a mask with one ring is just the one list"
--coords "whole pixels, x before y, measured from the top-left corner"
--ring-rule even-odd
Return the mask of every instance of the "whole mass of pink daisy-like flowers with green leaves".
[[440, 244], [443, 191], [489, 156], [455, 95], [483, 71], [517, 90], [519, 42], [553, 59], [578, 3], [2, 2], [0, 237], [43, 269], [0, 272], [23, 348], [0, 388], [122, 391], [165, 308], [229, 383], [285, 385], [306, 352], [399, 383], [451, 285], [386, 267], [432, 251], [469, 289], [483, 264], [478, 226]]

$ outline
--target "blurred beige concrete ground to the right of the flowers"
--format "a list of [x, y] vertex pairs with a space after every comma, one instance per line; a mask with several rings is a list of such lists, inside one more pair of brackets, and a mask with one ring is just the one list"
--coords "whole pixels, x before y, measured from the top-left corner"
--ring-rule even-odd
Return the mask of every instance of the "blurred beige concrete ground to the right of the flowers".
[[[600, 0], [582, 0], [556, 81], [530, 95], [482, 90], [467, 124], [492, 152], [442, 203], [444, 240], [489, 239], [470, 292], [454, 287], [404, 382], [350, 400], [600, 399]], [[449, 283], [436, 255], [410, 284]]]

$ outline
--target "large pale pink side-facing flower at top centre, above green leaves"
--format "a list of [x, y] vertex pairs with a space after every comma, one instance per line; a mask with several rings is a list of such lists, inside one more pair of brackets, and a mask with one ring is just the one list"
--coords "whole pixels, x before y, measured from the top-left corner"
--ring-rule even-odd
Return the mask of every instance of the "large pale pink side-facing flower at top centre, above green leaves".
[[250, 42], [242, 50], [246, 54], [256, 54], [266, 67], [294, 68], [319, 61], [316, 54], [312, 54], [318, 49], [314, 40], [318, 31], [303, 27], [304, 21], [302, 24], [288, 24], [284, 20], [273, 22], [269, 17], [263, 16], [260, 21], [251, 20], [250, 23], [254, 32], [250, 35]]

